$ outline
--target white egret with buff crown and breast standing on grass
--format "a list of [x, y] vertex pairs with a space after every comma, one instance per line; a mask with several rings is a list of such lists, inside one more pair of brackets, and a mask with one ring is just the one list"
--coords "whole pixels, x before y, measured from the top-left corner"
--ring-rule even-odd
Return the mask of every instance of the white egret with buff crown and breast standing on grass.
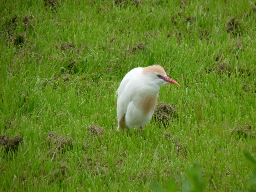
[[180, 86], [159, 65], [129, 71], [116, 91], [117, 131], [138, 127], [142, 131], [153, 116], [160, 86], [168, 83]]

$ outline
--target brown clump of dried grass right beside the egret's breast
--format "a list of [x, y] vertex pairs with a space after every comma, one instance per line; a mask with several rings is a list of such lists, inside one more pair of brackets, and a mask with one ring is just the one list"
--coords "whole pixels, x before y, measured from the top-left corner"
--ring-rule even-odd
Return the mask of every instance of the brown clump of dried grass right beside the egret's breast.
[[154, 118], [159, 122], [166, 122], [176, 116], [176, 106], [160, 102], [156, 104]]

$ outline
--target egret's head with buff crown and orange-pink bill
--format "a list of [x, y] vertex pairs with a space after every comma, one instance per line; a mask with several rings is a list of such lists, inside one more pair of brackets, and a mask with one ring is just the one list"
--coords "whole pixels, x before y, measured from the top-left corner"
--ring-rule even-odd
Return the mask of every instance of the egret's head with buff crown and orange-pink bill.
[[162, 86], [171, 83], [180, 86], [180, 84], [166, 75], [164, 68], [160, 65], [151, 65], [143, 68], [142, 73], [146, 76], [146, 81], [148, 81], [150, 84]]

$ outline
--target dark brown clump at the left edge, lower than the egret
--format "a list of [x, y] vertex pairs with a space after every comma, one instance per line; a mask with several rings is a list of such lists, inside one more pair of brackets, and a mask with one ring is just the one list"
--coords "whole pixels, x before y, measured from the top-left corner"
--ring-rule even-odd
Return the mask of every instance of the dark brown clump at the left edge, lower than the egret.
[[8, 152], [9, 150], [16, 150], [19, 146], [19, 143], [23, 141], [23, 138], [16, 135], [12, 138], [9, 136], [3, 135], [0, 137], [0, 147], [6, 147], [5, 151]]

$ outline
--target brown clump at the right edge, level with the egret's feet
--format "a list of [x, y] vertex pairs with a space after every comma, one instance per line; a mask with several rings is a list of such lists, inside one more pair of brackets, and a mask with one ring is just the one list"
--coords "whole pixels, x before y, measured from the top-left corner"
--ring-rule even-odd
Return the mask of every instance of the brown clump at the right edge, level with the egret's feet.
[[231, 132], [232, 133], [236, 132], [239, 138], [241, 137], [243, 137], [244, 139], [248, 137], [255, 138], [256, 134], [252, 129], [253, 129], [252, 124], [250, 124], [249, 122], [246, 122], [244, 126], [237, 125]]

